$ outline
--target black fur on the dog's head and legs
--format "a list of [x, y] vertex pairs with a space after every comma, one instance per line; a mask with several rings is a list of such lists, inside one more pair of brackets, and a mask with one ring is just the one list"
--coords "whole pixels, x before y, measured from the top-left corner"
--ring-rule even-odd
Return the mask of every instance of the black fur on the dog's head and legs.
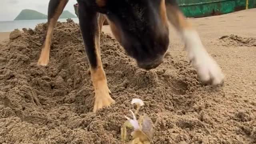
[[[61, 0], [50, 0], [48, 16]], [[105, 0], [99, 7], [96, 0], [77, 0], [80, 29], [86, 54], [92, 68], [97, 67], [95, 36], [98, 31], [97, 13], [105, 14], [120, 33], [120, 44], [140, 68], [156, 68], [169, 46], [168, 26], [160, 17], [161, 0]], [[176, 0], [165, 0], [177, 5]], [[48, 18], [49, 18], [48, 17]]]

